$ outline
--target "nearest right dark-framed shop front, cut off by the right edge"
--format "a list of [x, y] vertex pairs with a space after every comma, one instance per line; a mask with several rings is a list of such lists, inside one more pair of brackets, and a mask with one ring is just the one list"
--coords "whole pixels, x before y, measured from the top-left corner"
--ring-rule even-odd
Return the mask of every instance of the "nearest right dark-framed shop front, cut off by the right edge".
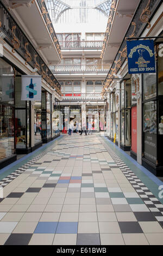
[[156, 176], [163, 176], [163, 54], [158, 43], [156, 73], [142, 75], [143, 148], [142, 165]]

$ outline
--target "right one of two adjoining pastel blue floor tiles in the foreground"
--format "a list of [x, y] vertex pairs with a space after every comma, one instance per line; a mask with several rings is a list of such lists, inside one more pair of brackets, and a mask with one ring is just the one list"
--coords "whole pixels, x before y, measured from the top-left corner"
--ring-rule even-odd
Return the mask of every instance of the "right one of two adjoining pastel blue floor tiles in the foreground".
[[78, 222], [59, 222], [56, 234], [77, 234]]

